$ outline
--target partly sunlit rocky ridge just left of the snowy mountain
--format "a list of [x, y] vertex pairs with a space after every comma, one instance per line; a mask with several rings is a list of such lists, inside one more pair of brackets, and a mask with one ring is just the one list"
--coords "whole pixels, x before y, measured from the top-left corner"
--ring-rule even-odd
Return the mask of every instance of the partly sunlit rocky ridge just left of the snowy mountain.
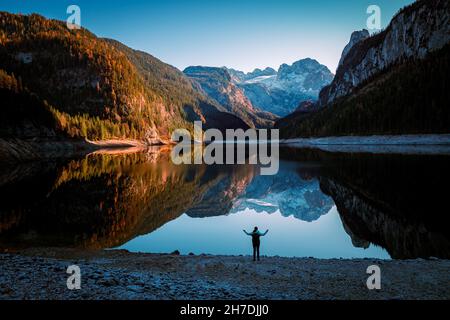
[[228, 112], [240, 117], [249, 127], [273, 125], [276, 117], [254, 107], [244, 92], [232, 81], [232, 76], [226, 69], [198, 66], [188, 67], [184, 73], [195, 81], [208, 97]]

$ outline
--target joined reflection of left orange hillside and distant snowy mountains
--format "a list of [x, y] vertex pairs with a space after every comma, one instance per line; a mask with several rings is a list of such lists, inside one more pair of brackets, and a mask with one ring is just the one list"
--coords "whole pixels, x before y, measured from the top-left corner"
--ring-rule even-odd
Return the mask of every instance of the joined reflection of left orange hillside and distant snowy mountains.
[[161, 150], [1, 172], [5, 246], [114, 247], [185, 212], [210, 217], [244, 207], [261, 211], [270, 202], [286, 216], [312, 221], [332, 205], [309, 173], [284, 167], [278, 176], [262, 177], [250, 165], [175, 166]]

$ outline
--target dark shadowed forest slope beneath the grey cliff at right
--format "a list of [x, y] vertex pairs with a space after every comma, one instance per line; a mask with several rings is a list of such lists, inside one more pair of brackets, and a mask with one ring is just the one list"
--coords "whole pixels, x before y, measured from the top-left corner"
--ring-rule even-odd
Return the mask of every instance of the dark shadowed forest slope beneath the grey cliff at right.
[[450, 45], [393, 66], [318, 112], [280, 120], [283, 137], [448, 133]]

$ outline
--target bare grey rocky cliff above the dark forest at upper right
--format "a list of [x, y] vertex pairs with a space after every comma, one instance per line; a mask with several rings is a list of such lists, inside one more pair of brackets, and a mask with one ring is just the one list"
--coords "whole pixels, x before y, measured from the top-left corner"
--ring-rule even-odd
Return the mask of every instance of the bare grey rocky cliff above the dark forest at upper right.
[[325, 106], [386, 68], [408, 59], [423, 59], [450, 41], [450, 2], [417, 1], [401, 10], [383, 32], [366, 38], [354, 33], [344, 49], [336, 77], [320, 93]]

